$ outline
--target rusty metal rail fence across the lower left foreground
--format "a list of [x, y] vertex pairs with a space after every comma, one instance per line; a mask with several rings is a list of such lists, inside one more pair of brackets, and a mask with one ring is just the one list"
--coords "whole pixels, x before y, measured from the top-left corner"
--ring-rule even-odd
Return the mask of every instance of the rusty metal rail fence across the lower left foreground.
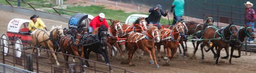
[[[6, 40], [6, 39], [3, 39], [3, 38], [0, 37], [0, 40], [3, 41], [3, 40]], [[16, 43], [14, 41], [9, 41], [9, 40], [6, 40], [6, 41], [11, 42], [13, 44], [22, 45], [23, 46], [22, 51], [20, 51], [20, 52], [23, 53], [22, 55], [32, 55], [32, 57], [34, 58], [34, 61], [32, 61], [32, 63], [35, 64], [35, 65], [30, 66], [30, 67], [32, 67], [32, 70], [34, 70], [34, 72], [36, 72], [36, 73], [49, 73], [49, 72], [50, 73], [56, 73], [56, 72], [68, 73], [69, 69], [67, 69], [66, 63], [74, 64], [75, 66], [77, 66], [74, 71], [78, 71], [78, 72], [82, 72], [82, 69], [84, 69], [86, 72], [90, 72], [90, 73], [92, 73], [92, 72], [94, 72], [94, 73], [96, 73], [96, 72], [111, 73], [111, 71], [108, 69], [108, 67], [112, 67], [112, 69], [115, 72], [118, 72], [118, 73], [122, 73], [122, 72], [124, 72], [124, 73], [134, 73], [132, 71], [128, 71], [128, 70], [126, 70], [124, 68], [121, 68], [121, 67], [116, 67], [116, 66], [113, 66], [113, 65], [107, 65], [107, 64], [104, 64], [104, 63], [99, 63], [99, 62], [84, 59], [84, 58], [81, 58], [81, 57], [78, 57], [78, 56], [68, 55], [68, 54], [54, 52], [54, 51], [49, 51], [47, 49], [40, 49], [40, 48], [33, 47], [33, 46], [30, 46], [30, 45], [23, 45], [23, 44], [20, 44], [20, 43]], [[13, 44], [11, 45], [12, 47], [9, 47], [9, 45], [5, 46], [4, 43], [0, 44], [0, 47], [2, 48], [2, 51], [0, 51], [0, 53], [2, 54], [2, 58], [0, 57], [0, 59], [2, 59], [2, 63], [12, 65], [14, 67], [19, 67], [21, 69], [28, 69], [28, 67], [26, 66], [28, 63], [25, 62], [28, 59], [23, 58], [24, 56], [16, 57], [15, 56], [15, 51], [19, 51], [19, 50], [13, 48], [14, 47]], [[4, 47], [8, 47], [8, 49], [9, 49], [8, 53], [3, 52]], [[25, 48], [36, 48], [36, 53], [29, 53], [29, 52], [25, 51]], [[63, 60], [63, 58], [60, 58], [60, 56], [58, 56], [58, 59], [53, 59], [52, 55], [48, 55], [48, 56], [50, 56], [50, 58], [46, 57], [45, 55], [39, 55], [38, 50], [45, 51], [47, 54], [54, 52], [58, 55], [68, 55], [69, 57], [76, 57], [78, 59], [82, 59], [83, 61], [90, 62], [90, 65], [93, 65], [94, 68], [82, 66], [82, 64], [81, 64], [82, 61], [80, 61], [77, 64], [77, 63], [67, 62], [67, 61]], [[7, 54], [7, 56], [4, 56], [4, 54]], [[44, 62], [44, 59], [49, 59], [51, 64], [46, 64]], [[60, 64], [65, 65], [64, 68], [58, 67], [55, 64], [52, 64], [53, 63], [52, 61], [56, 61], [56, 60], [59, 61]]]

